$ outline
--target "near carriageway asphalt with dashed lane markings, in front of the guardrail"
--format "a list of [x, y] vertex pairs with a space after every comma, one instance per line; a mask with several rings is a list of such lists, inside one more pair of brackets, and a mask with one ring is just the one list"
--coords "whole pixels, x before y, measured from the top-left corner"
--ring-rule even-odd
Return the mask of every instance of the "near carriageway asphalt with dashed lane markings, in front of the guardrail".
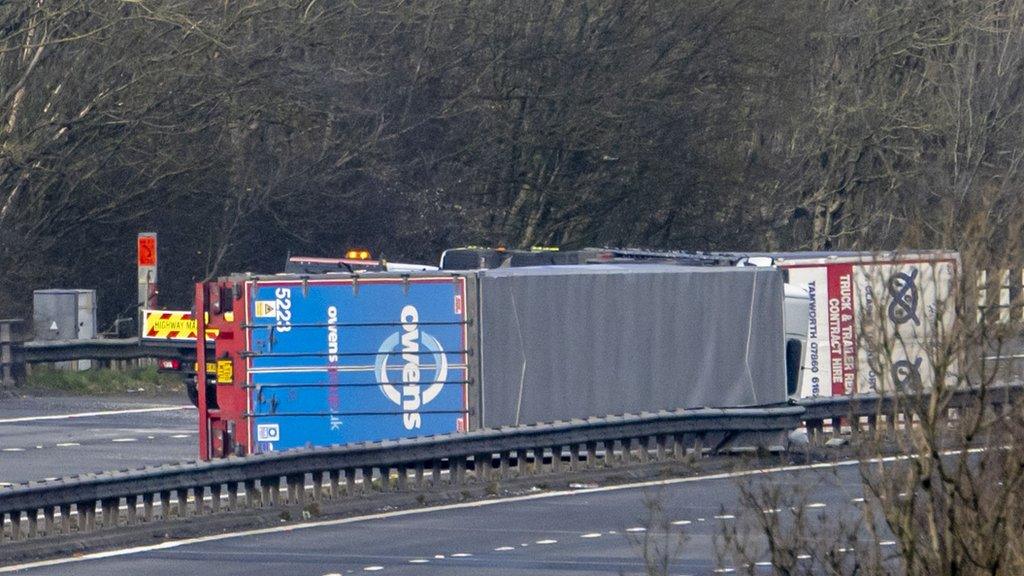
[[[802, 469], [752, 477], [802, 486], [820, 515], [858, 515], [856, 466]], [[643, 574], [638, 542], [654, 534], [647, 503], [657, 502], [685, 534], [671, 574], [728, 573], [714, 538], [734, 518], [733, 478], [689, 479], [662, 486], [532, 494], [517, 501], [457, 504], [413, 513], [391, 512], [330, 521], [308, 528], [282, 526], [257, 534], [200, 538], [157, 549], [23, 570], [30, 575], [136, 576], [246, 574], [505, 575]], [[885, 545], [891, 545], [886, 543]], [[768, 573], [768, 566], [758, 571]], [[0, 570], [2, 572], [2, 570]], [[736, 570], [740, 572], [740, 570]]]

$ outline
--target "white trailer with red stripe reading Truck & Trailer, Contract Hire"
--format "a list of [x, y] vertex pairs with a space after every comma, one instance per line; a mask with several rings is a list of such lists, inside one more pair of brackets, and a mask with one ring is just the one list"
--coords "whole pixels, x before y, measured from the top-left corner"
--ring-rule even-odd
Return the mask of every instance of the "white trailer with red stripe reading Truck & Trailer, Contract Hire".
[[934, 344], [952, 327], [959, 255], [920, 252], [751, 254], [807, 290], [800, 396], [932, 385]]

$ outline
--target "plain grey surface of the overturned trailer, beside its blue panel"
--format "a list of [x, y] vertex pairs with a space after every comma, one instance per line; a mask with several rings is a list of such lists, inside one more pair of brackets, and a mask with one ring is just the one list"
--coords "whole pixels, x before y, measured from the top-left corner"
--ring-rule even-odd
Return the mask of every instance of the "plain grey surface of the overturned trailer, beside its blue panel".
[[484, 426], [787, 400], [778, 270], [496, 269], [478, 291]]

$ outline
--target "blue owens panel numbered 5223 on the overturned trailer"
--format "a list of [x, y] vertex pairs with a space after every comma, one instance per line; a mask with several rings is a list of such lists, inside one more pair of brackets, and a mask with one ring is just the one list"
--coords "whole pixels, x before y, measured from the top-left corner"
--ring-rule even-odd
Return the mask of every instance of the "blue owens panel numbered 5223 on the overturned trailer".
[[466, 428], [465, 280], [250, 283], [255, 452]]

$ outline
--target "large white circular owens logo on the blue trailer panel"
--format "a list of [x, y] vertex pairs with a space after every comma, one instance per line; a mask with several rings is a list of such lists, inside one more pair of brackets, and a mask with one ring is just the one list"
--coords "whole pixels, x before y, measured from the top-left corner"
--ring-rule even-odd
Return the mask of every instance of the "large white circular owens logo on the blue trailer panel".
[[[437, 338], [420, 331], [420, 313], [416, 306], [407, 305], [401, 308], [400, 321], [401, 332], [395, 332], [384, 339], [377, 351], [374, 369], [381, 392], [401, 408], [401, 422], [406, 429], [411, 430], [423, 423], [420, 407], [430, 404], [444, 388], [444, 380], [447, 379], [447, 358]], [[421, 346], [423, 351], [432, 354], [422, 354]], [[388, 366], [388, 358], [399, 352], [402, 360], [400, 390], [388, 378], [389, 368], [394, 369]], [[431, 365], [421, 365], [424, 358], [431, 357], [433, 359]], [[429, 379], [430, 384], [426, 389], [422, 389], [423, 373], [426, 370], [433, 371], [434, 377]]]

